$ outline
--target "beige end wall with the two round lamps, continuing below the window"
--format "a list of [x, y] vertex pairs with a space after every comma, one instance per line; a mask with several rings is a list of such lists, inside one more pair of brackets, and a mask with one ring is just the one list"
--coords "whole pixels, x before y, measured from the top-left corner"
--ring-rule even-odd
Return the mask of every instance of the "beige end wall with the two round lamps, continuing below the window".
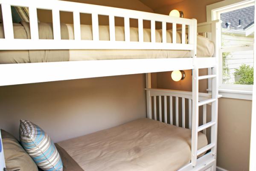
[[[155, 9], [156, 13], [169, 14], [172, 9], [183, 11], [184, 17], [195, 18], [198, 23], [206, 22], [206, 6], [221, 0], [184, 0], [171, 6]], [[206, 72], [204, 70], [204, 72]], [[173, 83], [170, 73], [157, 74], [157, 88], [172, 88], [191, 91], [191, 71], [186, 71], [186, 79]], [[202, 71], [200, 72], [202, 74]], [[207, 82], [199, 85], [201, 92]], [[230, 171], [249, 170], [250, 152], [250, 100], [221, 98], [218, 109], [218, 154], [217, 165]]]

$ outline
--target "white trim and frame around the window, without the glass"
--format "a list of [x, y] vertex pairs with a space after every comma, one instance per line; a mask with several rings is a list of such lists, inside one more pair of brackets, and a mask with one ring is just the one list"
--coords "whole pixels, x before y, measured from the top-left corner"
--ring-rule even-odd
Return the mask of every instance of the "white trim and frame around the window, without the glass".
[[[254, 0], [223, 0], [218, 3], [214, 3], [206, 6], [207, 9], [207, 22], [212, 20], [217, 20], [220, 18], [220, 13], [232, 11], [240, 8], [245, 8], [247, 6], [254, 5]], [[253, 45], [247, 45], [244, 47], [239, 46], [240, 50], [253, 50]], [[220, 49], [219, 55], [219, 73], [222, 73], [222, 52], [224, 51], [233, 51], [234, 48], [224, 48]], [[236, 48], [236, 51], [238, 49]], [[256, 61], [255, 61], [256, 62]], [[208, 73], [211, 73], [211, 68], [208, 69]], [[211, 91], [212, 89], [212, 80], [208, 79], [208, 89], [207, 91]], [[234, 99], [243, 99], [243, 100], [252, 100], [252, 88], [253, 85], [228, 85], [222, 84], [222, 74], [219, 77], [219, 94], [222, 97], [226, 98], [234, 98]]]

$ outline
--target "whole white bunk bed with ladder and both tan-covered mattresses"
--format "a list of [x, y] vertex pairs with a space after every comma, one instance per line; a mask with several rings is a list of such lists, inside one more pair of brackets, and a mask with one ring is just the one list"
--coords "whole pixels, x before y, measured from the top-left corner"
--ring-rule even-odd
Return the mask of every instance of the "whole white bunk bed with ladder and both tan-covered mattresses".
[[[124, 165], [119, 165], [120, 162], [119, 164], [117, 163], [119, 158], [118, 154], [120, 153], [116, 151], [122, 151], [124, 146], [119, 146], [119, 148], [115, 148], [113, 149], [113, 151], [111, 151], [110, 146], [107, 146], [105, 147], [107, 149], [105, 149], [104, 151], [104, 149], [99, 149], [97, 147], [89, 148], [88, 144], [100, 143], [103, 139], [99, 138], [101, 137], [99, 135], [105, 135], [106, 141], [101, 143], [111, 144], [113, 140], [108, 141], [107, 139], [110, 135], [113, 135], [113, 132], [115, 132], [116, 135], [119, 135], [117, 133], [122, 130], [125, 132], [125, 135], [123, 136], [127, 137], [128, 135], [131, 135], [138, 130], [144, 133], [148, 132], [148, 128], [150, 128], [152, 132], [149, 132], [153, 135], [159, 136], [164, 132], [161, 138], [163, 138], [163, 142], [167, 143], [162, 144], [164, 145], [164, 148], [162, 149], [159, 146], [159, 150], [150, 151], [148, 149], [148, 145], [150, 146], [150, 144], [147, 144], [146, 142], [152, 141], [152, 144], [157, 144], [158, 142], [155, 142], [156, 138], [154, 138], [153, 136], [150, 137], [149, 135], [149, 139], [145, 140], [145, 142], [139, 143], [141, 148], [134, 148], [134, 151], [130, 151], [131, 153], [136, 153], [135, 155], [137, 155], [137, 153], [139, 153], [141, 150], [144, 150], [144, 152], [149, 150], [148, 156], [151, 157], [142, 157], [140, 155], [136, 156], [138, 158], [137, 162], [141, 164], [141, 168], [145, 169], [146, 166], [148, 166], [148, 170], [155, 170], [159, 167], [163, 167], [165, 169], [167, 168], [167, 170], [173, 169], [172, 166], [174, 167], [174, 164], [172, 162], [167, 162], [166, 160], [164, 160], [164, 158], [168, 160], [172, 160], [175, 158], [175, 156], [172, 154], [172, 150], [178, 147], [178, 145], [167, 144], [169, 140], [168, 137], [171, 137], [173, 135], [170, 133], [176, 132], [177, 138], [172, 137], [172, 139], [180, 139], [178, 143], [184, 144], [187, 151], [183, 154], [179, 154], [181, 155], [181, 157], [176, 156], [177, 158], [185, 158], [185, 160], [178, 160], [179, 162], [176, 163], [180, 164], [176, 165], [174, 167], [174, 170], [216, 170], [216, 143], [218, 120], [217, 109], [219, 97], [219, 41], [218, 37], [216, 37], [216, 34], [218, 31], [220, 31], [220, 21], [216, 20], [208, 23], [197, 24], [197, 21], [195, 19], [177, 18], [142, 11], [118, 9], [106, 6], [96, 6], [84, 3], [73, 3], [60, 0], [0, 0], [0, 4], [3, 15], [3, 25], [0, 26], [0, 36], [2, 35], [0, 38], [0, 57], [2, 59], [7, 54], [11, 54], [11, 56], [13, 56], [15, 52], [17, 53], [17, 51], [30, 53], [30, 51], [34, 52], [49, 50], [55, 51], [57, 55], [58, 53], [68, 53], [67, 56], [69, 56], [68, 59], [65, 59], [66, 61], [63, 61], [63, 59], [57, 59], [54, 62], [47, 62], [47, 60], [35, 61], [37, 63], [26, 63], [26, 61], [24, 62], [24, 60], [21, 60], [22, 62], [17, 62], [19, 60], [8, 61], [9, 57], [7, 57], [7, 60], [3, 60], [0, 64], [0, 72], [4, 73], [0, 74], [0, 86], [146, 73], [145, 91], [147, 96], [147, 119], [139, 121], [136, 120], [134, 122], [126, 123], [124, 125], [120, 125], [108, 130], [103, 130], [97, 133], [85, 135], [84, 137], [78, 137], [73, 140], [67, 140], [58, 143], [58, 146], [60, 146], [59, 149], [63, 149], [66, 153], [68, 153], [73, 158], [73, 160], [75, 160], [81, 166], [81, 168], [87, 169], [87, 167], [89, 167], [88, 163], [92, 162], [90, 159], [86, 159], [86, 155], [90, 155], [91, 151], [95, 152], [96, 150], [103, 150], [103, 153], [113, 154], [112, 156], [109, 155], [108, 157], [113, 157], [116, 159], [114, 161], [111, 161], [112, 164], [114, 163], [114, 166], [116, 166], [112, 167], [112, 169], [118, 170], [120, 169], [120, 167], [131, 168], [131, 170], [133, 168], [135, 170], [139, 169], [138, 167], [132, 165], [131, 160], [129, 160], [129, 162], [125, 162]], [[22, 25], [14, 25], [12, 23], [11, 6], [28, 7], [30, 22], [22, 23]], [[38, 24], [37, 9], [52, 10], [52, 29], [49, 29], [50, 32], [52, 31], [51, 39], [41, 39], [42, 37], [44, 37], [44, 35], [42, 35], [40, 31], [38, 31], [38, 28], [40, 28], [41, 25]], [[60, 24], [60, 11], [73, 12], [73, 25], [66, 25], [68, 36], [63, 35], [63, 29], [65, 28], [63, 28], [63, 24]], [[92, 26], [80, 24], [80, 13], [91, 14]], [[106, 33], [104, 33], [103, 31], [103, 34], [102, 30], [104, 30], [105, 27], [99, 26], [99, 14], [109, 17], [109, 30]], [[116, 27], [114, 23], [114, 17], [123, 17], [124, 27]], [[131, 28], [129, 26], [130, 18], [135, 18], [138, 20], [138, 28]], [[143, 20], [149, 20], [151, 22], [151, 28], [143, 28]], [[156, 21], [162, 23], [162, 28], [160, 30], [156, 29]], [[171, 30], [166, 30], [166, 23], [172, 23]], [[177, 24], [181, 25], [181, 28], [177, 28]], [[17, 29], [15, 27], [21, 27], [24, 29], [24, 31], [27, 31], [29, 27], [29, 32], [26, 32], [27, 37], [25, 36], [22, 39], [18, 39], [16, 32]], [[83, 31], [84, 29], [87, 29], [87, 31]], [[121, 30], [119, 37], [122, 38], [120, 39], [117, 35], [119, 34], [118, 30]], [[133, 31], [137, 35], [134, 34]], [[83, 39], [83, 37], [88, 37], [88, 35], [84, 36], [84, 33], [86, 32], [90, 32], [89, 40]], [[198, 33], [202, 33], [204, 36], [207, 35], [207, 37], [211, 39], [211, 42], [204, 39], [206, 41], [209, 41], [209, 46], [205, 46], [205, 44], [207, 43], [203, 43], [203, 46], [199, 48], [202, 52], [204, 52], [204, 50], [206, 51], [207, 48], [208, 50], [212, 48], [212, 51], [209, 50], [209, 53], [206, 56], [198, 57], [197, 55]], [[107, 34], [107, 36], [105, 34]], [[135, 37], [137, 36], [137, 38], [135, 38], [135, 40], [137, 41], [133, 41], [132, 37], [134, 35], [132, 34], [134, 34]], [[107, 38], [102, 39], [102, 35], [105, 35], [105, 37]], [[131, 56], [129, 57], [130, 59], [126, 59], [127, 56], [125, 55], [123, 55], [123, 57], [118, 57], [117, 55], [112, 59], [105, 57], [90, 58], [91, 55], [95, 53], [99, 53], [99, 57], [101, 56], [101, 54], [103, 55], [106, 52], [111, 54], [111, 51], [114, 53], [118, 51], [118, 54], [122, 54], [127, 53], [127, 51], [130, 50], [133, 50], [133, 52], [131, 52]], [[145, 51], [147, 55], [145, 55], [145, 57], [142, 57], [142, 54], [140, 54], [141, 51]], [[163, 56], [163, 54], [160, 54], [157, 57], [153, 57], [153, 51], [162, 51], [165, 52], [167, 55]], [[180, 51], [183, 54], [180, 56], [178, 54], [175, 54], [174, 52], [177, 51]], [[133, 57], [133, 53], [139, 53], [138, 57]], [[73, 55], [73, 61], [70, 61], [71, 54]], [[76, 59], [76, 55], [79, 54], [80, 57]], [[168, 54], [175, 55], [172, 56]], [[108, 54], [108, 56], [112, 55], [113, 54]], [[35, 56], [38, 56], [38, 54], [36, 54]], [[87, 57], [83, 58], [84, 56]], [[28, 60], [28, 62], [31, 61]], [[199, 76], [198, 70], [201, 68], [210, 68], [209, 70], [211, 71], [211, 74]], [[187, 69], [193, 70], [192, 92], [151, 88], [151, 72]], [[212, 94], [198, 92], [198, 82], [202, 79], [212, 80]], [[179, 112], [179, 99], [181, 99], [182, 102], [181, 112]], [[188, 118], [186, 118], [185, 116], [186, 103], [188, 103], [189, 106]], [[209, 123], [206, 123], [207, 104], [211, 105], [212, 112], [211, 121]], [[203, 125], [198, 125], [199, 106], [203, 106]], [[175, 109], [175, 112], [173, 112], [173, 109]], [[179, 120], [180, 118], [181, 120]], [[186, 124], [186, 121], [188, 121], [188, 124]], [[154, 132], [158, 130], [158, 128], [161, 128], [159, 130], [160, 132]], [[207, 142], [205, 136], [206, 128], [211, 128], [211, 138], [209, 142]], [[115, 137], [117, 140], [114, 143], [121, 143], [120, 140], [123, 140], [125, 137]], [[78, 143], [79, 140], [83, 143]], [[134, 140], [136, 140], [136, 136], [134, 137]], [[77, 155], [78, 151], [76, 150], [76, 148], [73, 148], [75, 146], [74, 144], [76, 144], [77, 146], [84, 145], [83, 148], [88, 149], [88, 151], [81, 151], [81, 153]], [[135, 143], [134, 146], [136, 147], [137, 145], [138, 144]], [[184, 148], [184, 146], [180, 147], [180, 149], [182, 148]], [[182, 157], [183, 155], [186, 155], [186, 157]], [[153, 160], [154, 157], [157, 156], [158, 162], [155, 163], [153, 162]], [[162, 158], [159, 156], [161, 156]], [[3, 162], [3, 157], [0, 158], [0, 160], [1, 162]], [[109, 160], [99, 160], [99, 162], [101, 161], [105, 162], [104, 166], [110, 163]], [[92, 163], [90, 165], [90, 169], [93, 170], [97, 168], [101, 170], [101, 168], [98, 168], [100, 167], [99, 162]]]

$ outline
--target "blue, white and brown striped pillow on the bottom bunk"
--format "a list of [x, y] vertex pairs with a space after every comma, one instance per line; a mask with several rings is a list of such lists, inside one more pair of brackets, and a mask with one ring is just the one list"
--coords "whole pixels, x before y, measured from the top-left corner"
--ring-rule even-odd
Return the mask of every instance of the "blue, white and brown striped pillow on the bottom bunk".
[[50, 137], [38, 125], [20, 120], [20, 143], [44, 171], [62, 171], [60, 154]]

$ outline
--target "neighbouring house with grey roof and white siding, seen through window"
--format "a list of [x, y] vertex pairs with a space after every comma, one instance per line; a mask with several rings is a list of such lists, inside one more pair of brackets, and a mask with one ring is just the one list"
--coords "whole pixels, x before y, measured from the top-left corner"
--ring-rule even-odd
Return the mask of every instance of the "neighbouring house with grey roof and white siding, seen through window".
[[[246, 46], [253, 43], [254, 37], [254, 6], [221, 14], [222, 46]], [[234, 84], [239, 80], [235, 77], [235, 69], [241, 64], [253, 67], [253, 51], [234, 51], [223, 53], [223, 83]]]

